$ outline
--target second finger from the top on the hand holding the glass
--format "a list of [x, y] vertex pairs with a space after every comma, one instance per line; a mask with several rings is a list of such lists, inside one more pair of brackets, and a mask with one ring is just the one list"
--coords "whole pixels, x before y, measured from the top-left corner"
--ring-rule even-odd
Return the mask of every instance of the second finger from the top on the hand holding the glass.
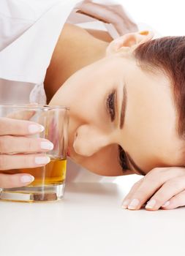
[[52, 149], [53, 143], [42, 138], [26, 138], [10, 135], [0, 136], [1, 154], [36, 153], [50, 151]]

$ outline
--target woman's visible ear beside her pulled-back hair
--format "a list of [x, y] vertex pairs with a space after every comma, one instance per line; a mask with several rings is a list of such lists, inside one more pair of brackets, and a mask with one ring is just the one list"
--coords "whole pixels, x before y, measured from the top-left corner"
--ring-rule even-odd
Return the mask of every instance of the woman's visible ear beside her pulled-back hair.
[[114, 39], [107, 47], [106, 55], [115, 53], [132, 53], [135, 48], [151, 40], [154, 37], [152, 31], [141, 31], [136, 33], [124, 34], [122, 37]]

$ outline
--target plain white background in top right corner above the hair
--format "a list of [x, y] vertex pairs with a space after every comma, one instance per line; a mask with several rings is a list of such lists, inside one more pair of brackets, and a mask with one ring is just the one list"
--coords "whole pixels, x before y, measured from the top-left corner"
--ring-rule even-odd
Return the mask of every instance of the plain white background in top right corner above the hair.
[[162, 36], [182, 36], [185, 29], [183, 0], [122, 0], [137, 23], [146, 23]]

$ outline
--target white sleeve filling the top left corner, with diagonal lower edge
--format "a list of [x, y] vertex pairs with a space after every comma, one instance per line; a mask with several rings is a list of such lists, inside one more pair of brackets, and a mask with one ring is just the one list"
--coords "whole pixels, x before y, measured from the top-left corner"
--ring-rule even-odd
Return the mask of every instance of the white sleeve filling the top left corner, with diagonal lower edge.
[[0, 50], [20, 37], [55, 1], [0, 1]]

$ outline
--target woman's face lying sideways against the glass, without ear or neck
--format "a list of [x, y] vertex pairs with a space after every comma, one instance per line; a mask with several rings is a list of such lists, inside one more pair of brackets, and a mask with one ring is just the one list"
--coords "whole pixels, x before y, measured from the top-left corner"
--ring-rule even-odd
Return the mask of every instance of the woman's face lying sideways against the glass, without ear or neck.
[[134, 58], [115, 54], [80, 69], [50, 104], [70, 108], [70, 157], [94, 173], [124, 174], [118, 146], [131, 169], [125, 174], [183, 165], [170, 81]]

